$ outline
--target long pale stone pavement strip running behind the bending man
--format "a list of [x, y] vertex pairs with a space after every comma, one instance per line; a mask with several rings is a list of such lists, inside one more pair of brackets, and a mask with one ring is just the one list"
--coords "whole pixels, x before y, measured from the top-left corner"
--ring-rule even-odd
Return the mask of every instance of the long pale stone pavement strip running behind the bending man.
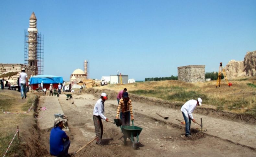
[[[132, 98], [131, 98], [132, 99]], [[117, 106], [117, 100], [108, 100], [105, 102], [105, 105], [114, 104]], [[134, 112], [134, 120], [136, 120], [136, 113], [147, 115], [159, 120], [164, 120], [167, 123], [177, 124], [180, 126], [180, 122], [176, 119], [180, 119], [184, 121], [182, 113], [180, 109], [166, 108], [162, 106], [149, 106], [146, 103], [140, 102], [132, 102], [133, 112]], [[156, 112], [163, 117], [169, 117], [169, 119], [165, 120], [164, 118], [159, 117]], [[215, 137], [219, 137], [224, 140], [229, 140], [233, 143], [244, 145], [253, 149], [256, 149], [256, 125], [246, 124], [244, 122], [235, 122], [220, 118], [213, 118], [201, 114], [193, 113], [193, 117], [195, 120], [201, 124], [200, 118], [203, 118], [203, 130], [207, 129], [205, 134], [209, 134]], [[201, 128], [196, 123], [191, 123], [191, 128]], [[185, 133], [180, 132], [180, 134]]]

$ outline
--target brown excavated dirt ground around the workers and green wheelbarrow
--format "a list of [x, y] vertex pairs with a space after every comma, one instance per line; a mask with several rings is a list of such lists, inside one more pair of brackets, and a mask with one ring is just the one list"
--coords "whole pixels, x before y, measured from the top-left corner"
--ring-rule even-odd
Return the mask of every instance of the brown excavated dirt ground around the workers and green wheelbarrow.
[[[39, 107], [43, 105], [41, 100], [44, 98], [47, 97], [40, 98]], [[73, 99], [66, 100], [65, 95], [60, 95], [58, 100], [64, 114], [68, 116], [70, 131], [67, 134], [71, 139], [69, 153], [72, 153], [95, 137], [92, 115], [98, 97], [92, 94], [82, 94], [74, 95]], [[105, 116], [109, 119], [114, 119], [116, 115], [117, 108], [113, 102], [114, 99], [105, 103]], [[150, 106], [147, 110], [155, 113], [158, 111], [158, 106]], [[96, 145], [93, 141], [75, 156], [256, 156], [255, 149], [200, 133], [195, 129], [192, 131], [193, 138], [186, 138], [182, 127], [175, 127], [150, 115], [145, 115], [143, 111], [136, 112], [136, 108], [134, 108], [134, 118], [134, 125], [143, 128], [139, 135], [139, 150], [132, 148], [130, 140], [127, 140], [127, 145], [124, 145], [120, 127], [103, 121], [102, 146]], [[45, 146], [44, 149], [48, 151], [49, 134], [50, 130], [44, 130], [40, 136], [42, 146]], [[40, 156], [50, 155], [42, 153]]]

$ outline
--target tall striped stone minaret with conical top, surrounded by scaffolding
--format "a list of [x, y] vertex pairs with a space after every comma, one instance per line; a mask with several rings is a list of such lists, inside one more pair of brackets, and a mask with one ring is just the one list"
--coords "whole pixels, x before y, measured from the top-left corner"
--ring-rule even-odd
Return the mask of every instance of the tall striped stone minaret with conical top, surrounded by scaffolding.
[[33, 12], [29, 18], [29, 59], [28, 59], [28, 65], [30, 66], [36, 66], [36, 72], [35, 75], [38, 74], [37, 69], [37, 28], [36, 28], [36, 16]]

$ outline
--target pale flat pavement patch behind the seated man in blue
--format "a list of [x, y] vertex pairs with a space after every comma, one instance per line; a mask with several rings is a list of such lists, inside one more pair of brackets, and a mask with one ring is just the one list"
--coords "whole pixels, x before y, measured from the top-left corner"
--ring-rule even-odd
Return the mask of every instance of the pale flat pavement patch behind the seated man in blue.
[[51, 129], [53, 127], [54, 114], [64, 114], [57, 96], [41, 96], [40, 107], [47, 108], [39, 112], [38, 126], [41, 130]]

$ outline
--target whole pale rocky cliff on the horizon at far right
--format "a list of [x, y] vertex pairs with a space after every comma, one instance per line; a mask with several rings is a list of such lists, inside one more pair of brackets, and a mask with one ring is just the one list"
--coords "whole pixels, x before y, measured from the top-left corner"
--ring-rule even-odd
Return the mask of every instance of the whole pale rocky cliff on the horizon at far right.
[[244, 61], [231, 60], [224, 68], [227, 78], [256, 75], [256, 51], [247, 52]]

